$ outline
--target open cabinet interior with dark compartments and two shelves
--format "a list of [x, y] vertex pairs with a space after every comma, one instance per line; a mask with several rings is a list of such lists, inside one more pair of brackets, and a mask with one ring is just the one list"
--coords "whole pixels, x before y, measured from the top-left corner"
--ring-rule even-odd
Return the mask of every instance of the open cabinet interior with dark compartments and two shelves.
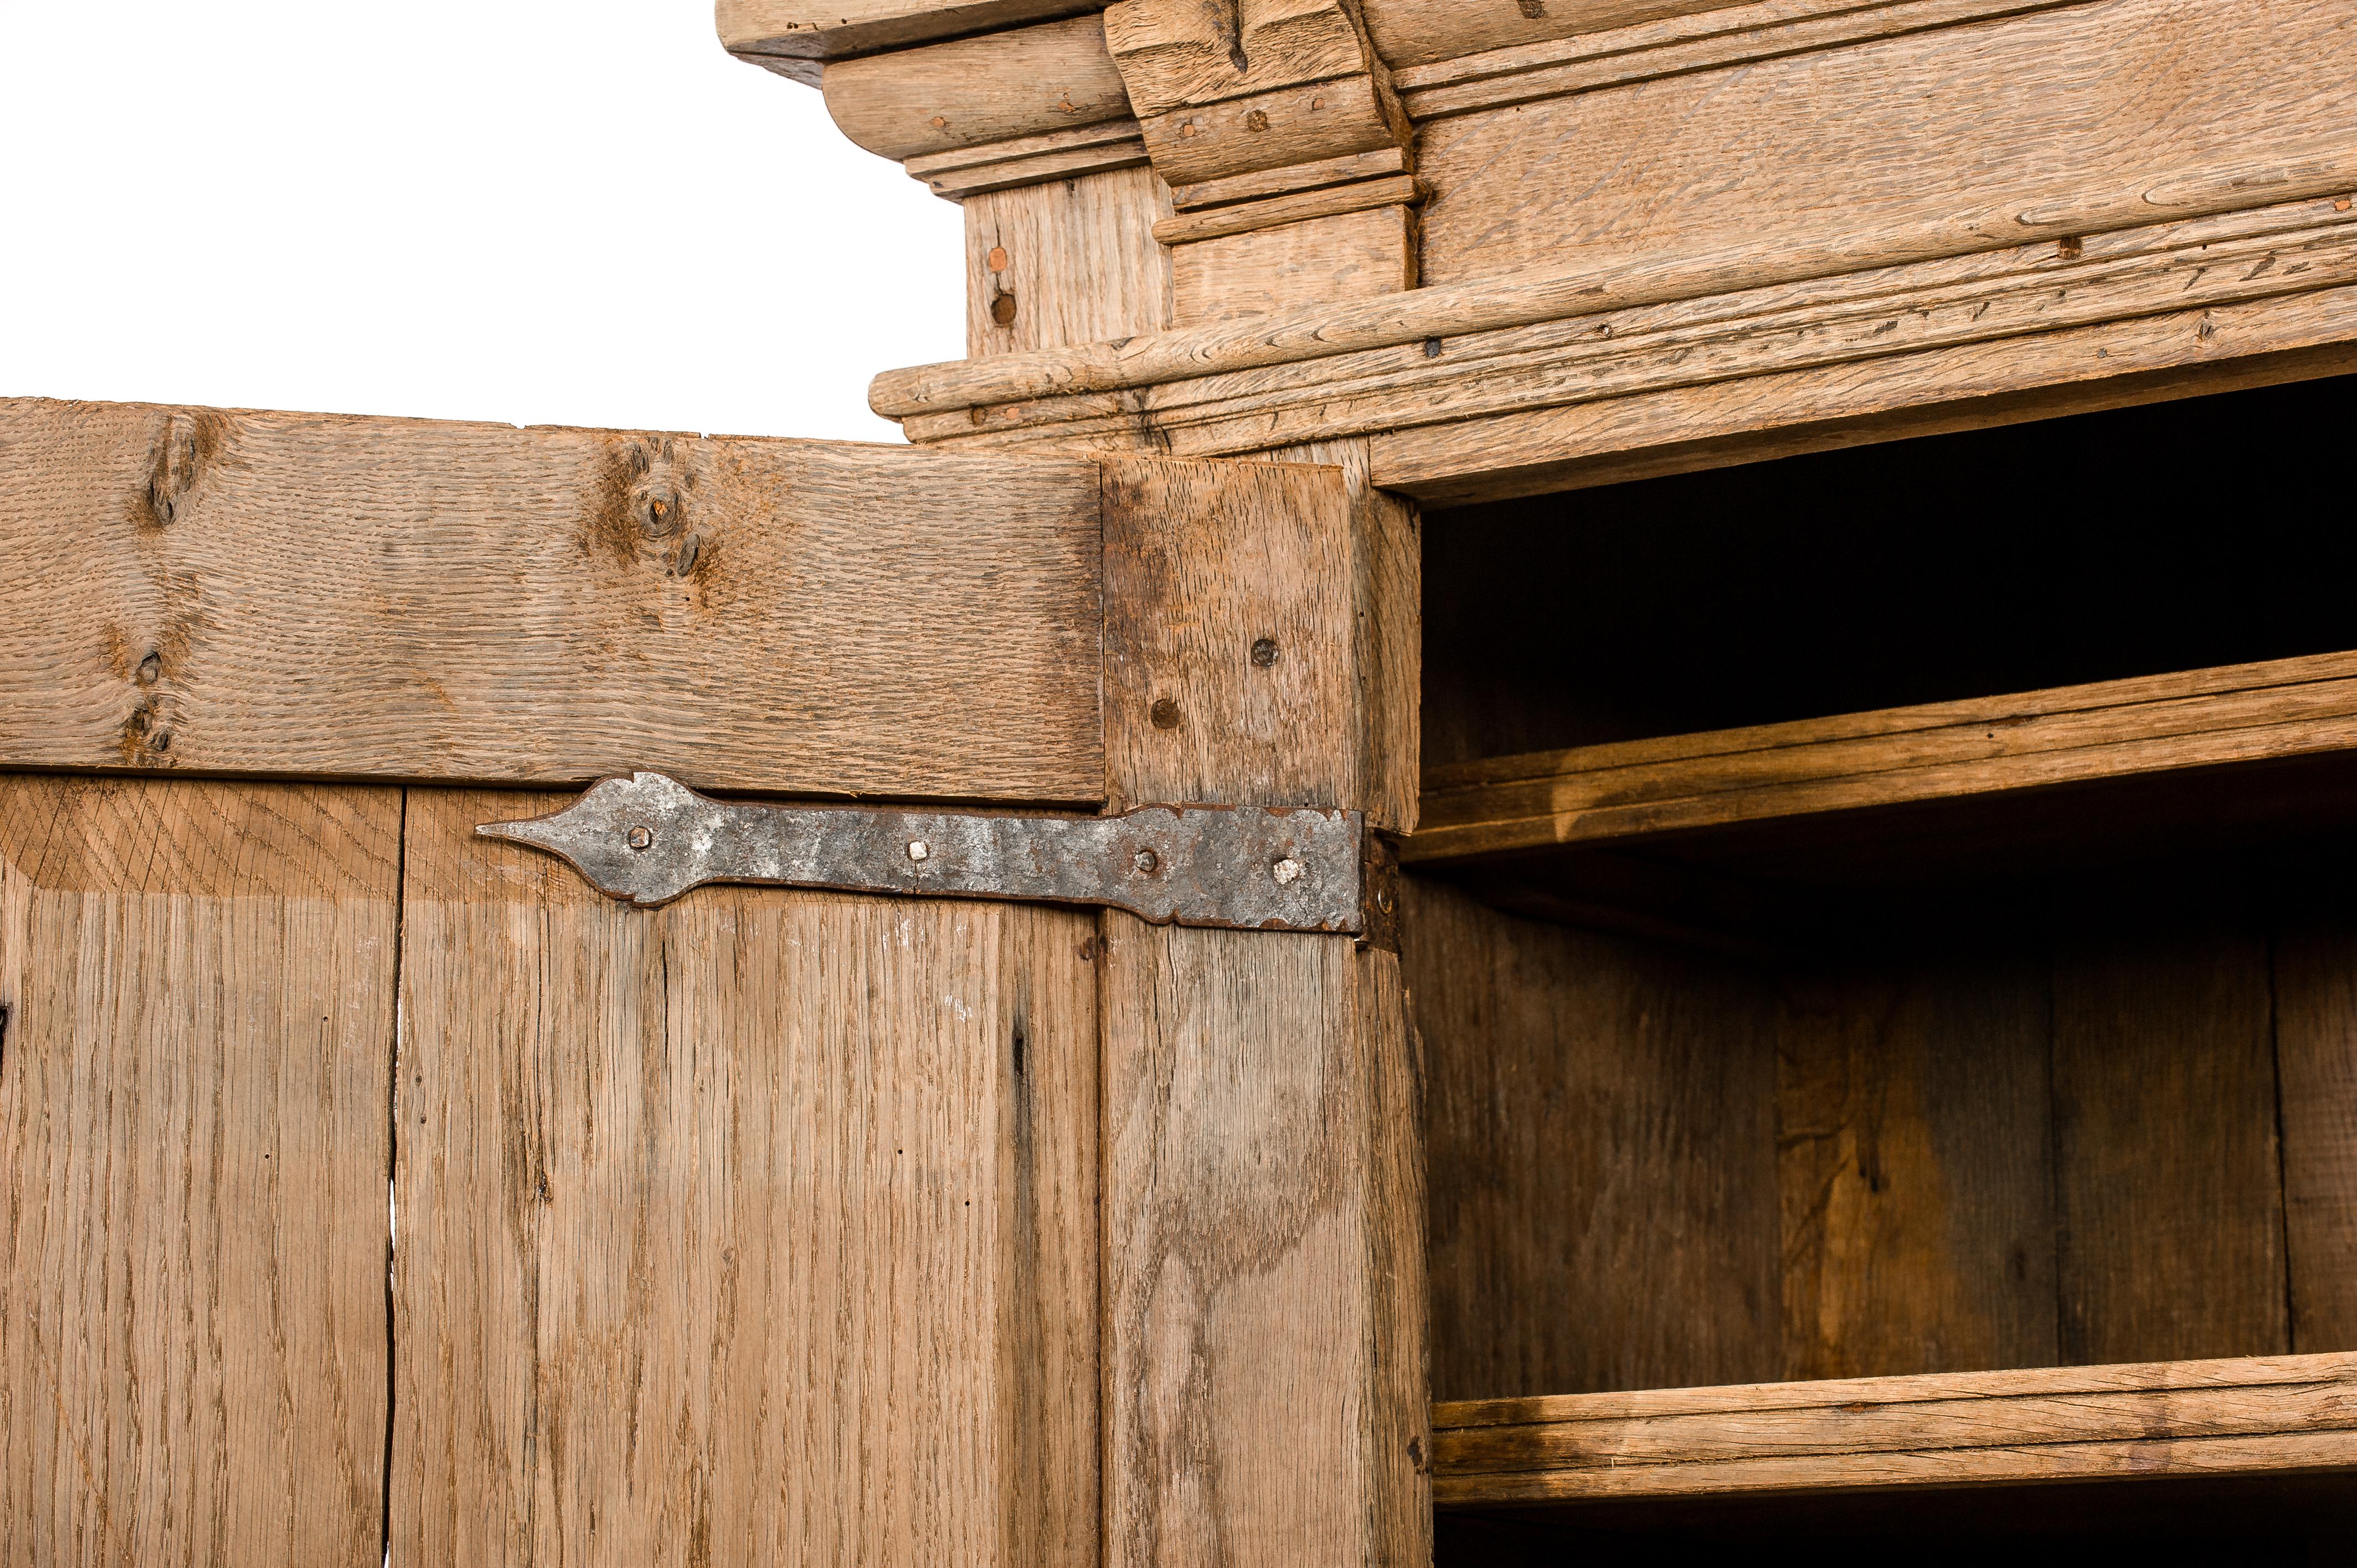
[[2357, 1507], [2352, 413], [1426, 519], [1442, 1561]]

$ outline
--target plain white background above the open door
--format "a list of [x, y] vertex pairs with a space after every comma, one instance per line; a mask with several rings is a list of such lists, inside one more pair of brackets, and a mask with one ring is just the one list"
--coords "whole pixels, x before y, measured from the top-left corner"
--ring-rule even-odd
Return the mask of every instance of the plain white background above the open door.
[[896, 441], [962, 290], [709, 0], [0, 0], [0, 394]]

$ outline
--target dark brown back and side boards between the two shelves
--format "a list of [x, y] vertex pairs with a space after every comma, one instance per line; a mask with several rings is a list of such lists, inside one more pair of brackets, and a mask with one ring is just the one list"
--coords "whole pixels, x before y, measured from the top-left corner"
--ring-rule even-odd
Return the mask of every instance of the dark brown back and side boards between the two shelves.
[[1435, 1394], [2338, 1349], [2352, 946], [2282, 898], [2107, 870], [1761, 962], [1409, 877]]

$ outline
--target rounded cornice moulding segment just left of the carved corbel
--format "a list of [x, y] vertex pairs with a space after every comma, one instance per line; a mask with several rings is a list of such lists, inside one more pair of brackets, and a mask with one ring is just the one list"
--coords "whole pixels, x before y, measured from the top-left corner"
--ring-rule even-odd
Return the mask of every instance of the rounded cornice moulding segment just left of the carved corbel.
[[837, 61], [825, 90], [834, 127], [893, 160], [1129, 118], [1096, 17]]

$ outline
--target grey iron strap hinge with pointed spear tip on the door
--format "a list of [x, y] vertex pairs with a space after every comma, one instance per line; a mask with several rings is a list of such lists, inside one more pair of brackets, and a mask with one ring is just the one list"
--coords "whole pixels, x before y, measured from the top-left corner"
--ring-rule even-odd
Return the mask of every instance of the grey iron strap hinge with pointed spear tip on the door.
[[1358, 811], [1146, 806], [1124, 816], [766, 806], [662, 773], [606, 778], [554, 816], [478, 835], [660, 908], [709, 882], [1129, 910], [1153, 924], [1334, 931], [1393, 948], [1388, 849]]

